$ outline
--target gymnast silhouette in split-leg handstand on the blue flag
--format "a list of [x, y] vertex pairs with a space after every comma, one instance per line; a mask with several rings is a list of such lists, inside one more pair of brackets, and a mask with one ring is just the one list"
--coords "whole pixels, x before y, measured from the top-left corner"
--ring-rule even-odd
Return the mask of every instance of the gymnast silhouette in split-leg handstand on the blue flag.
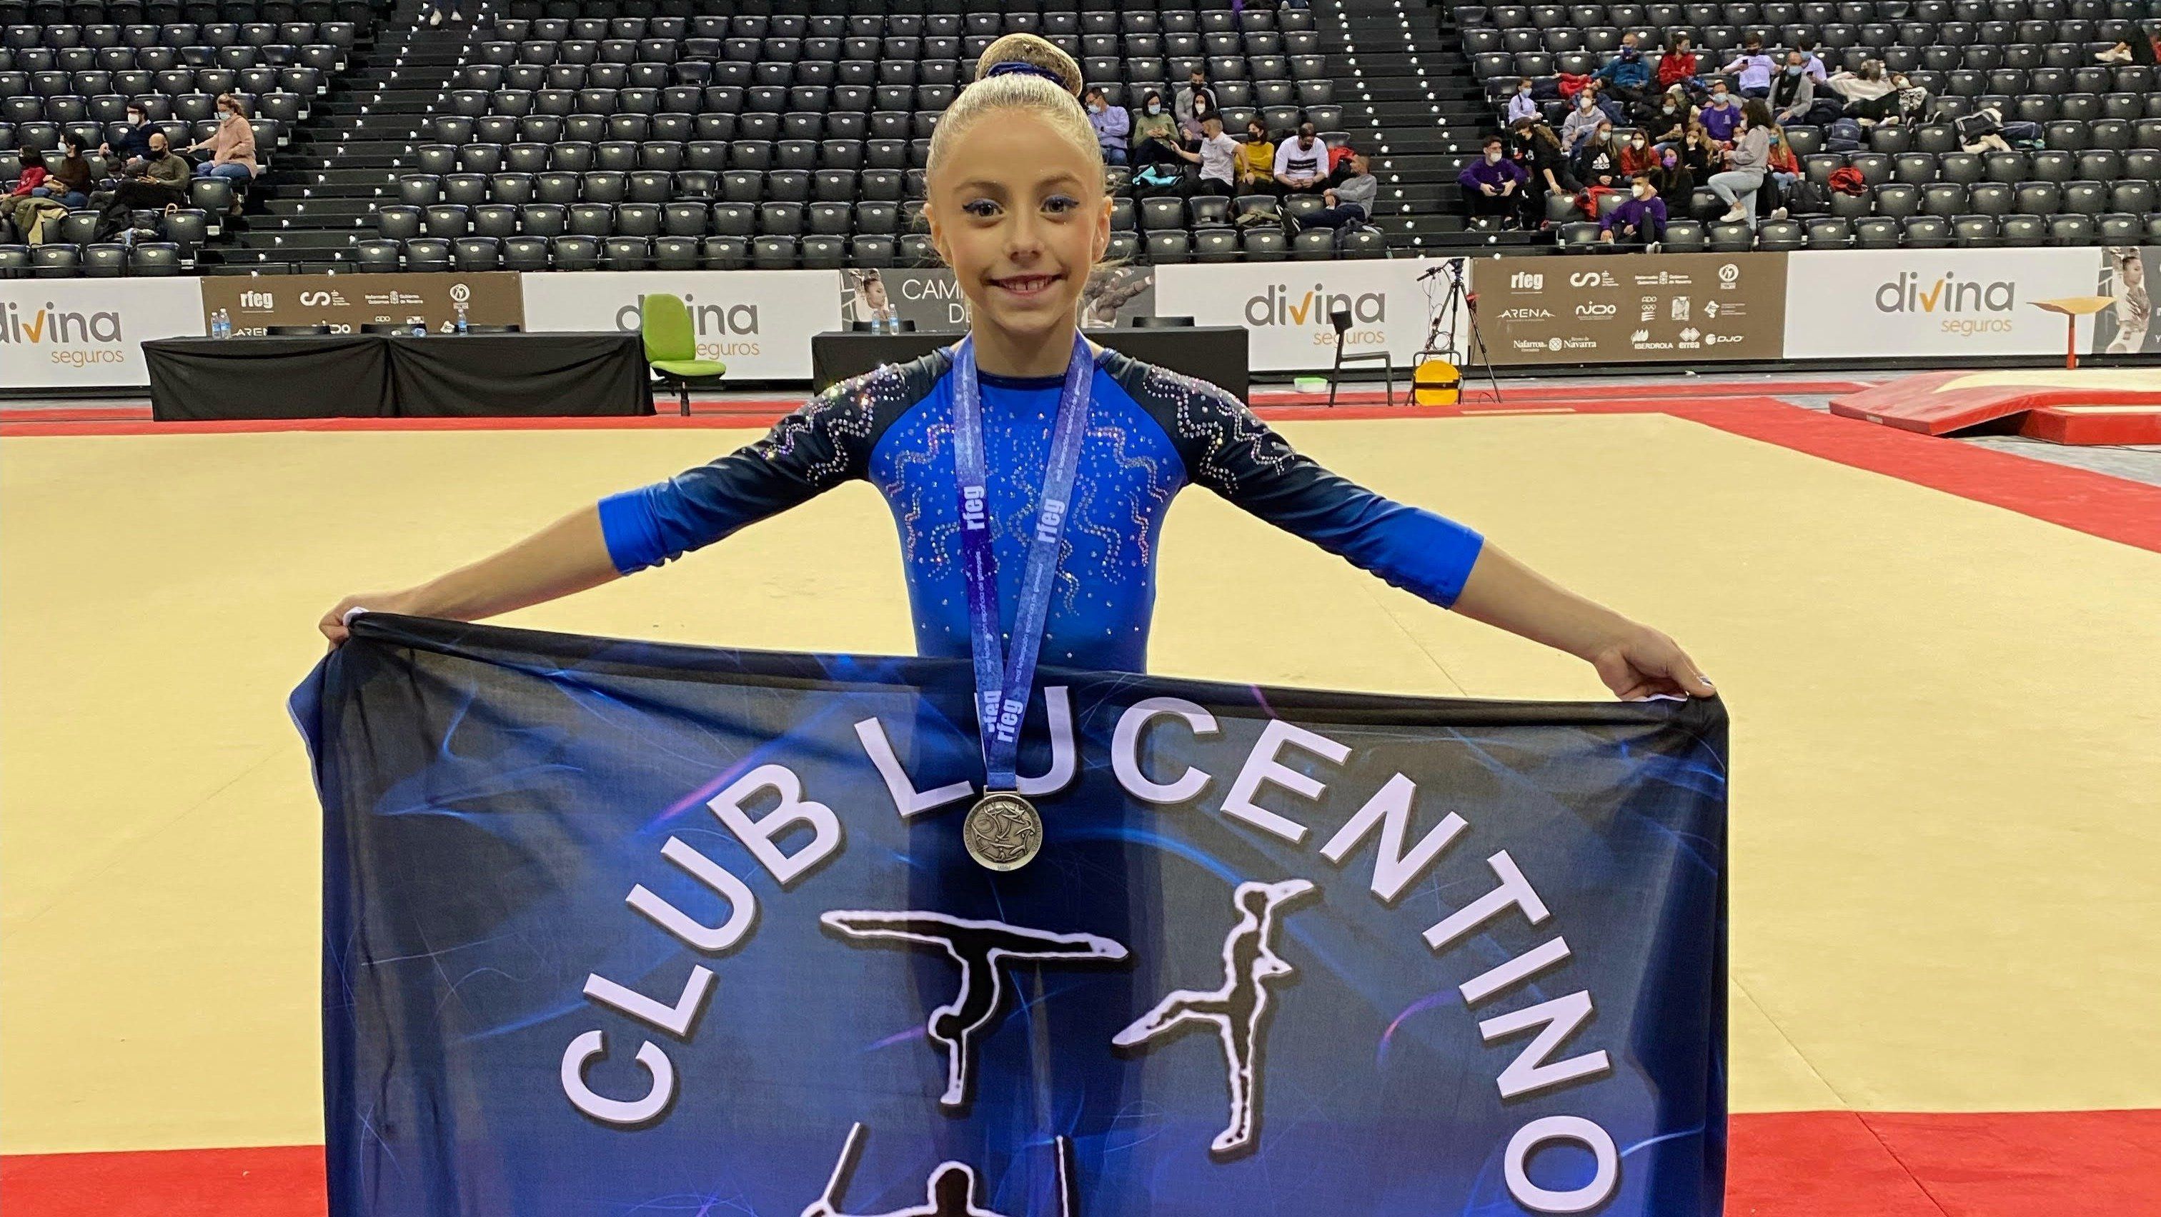
[[858, 942], [936, 947], [959, 964], [959, 990], [931, 1012], [925, 1031], [947, 1051], [940, 1107], [966, 1107], [975, 1092], [975, 1046], [1005, 1012], [1005, 966], [1111, 964], [1126, 947], [1096, 934], [1052, 934], [1003, 921], [966, 921], [944, 912], [858, 912], [819, 917], [828, 930]]

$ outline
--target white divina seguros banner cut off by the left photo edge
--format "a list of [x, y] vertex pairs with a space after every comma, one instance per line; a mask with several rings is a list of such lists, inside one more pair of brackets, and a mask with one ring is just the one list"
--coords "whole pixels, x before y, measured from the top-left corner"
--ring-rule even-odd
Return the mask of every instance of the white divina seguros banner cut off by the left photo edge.
[[0, 389], [149, 385], [143, 344], [203, 335], [201, 279], [0, 279]]

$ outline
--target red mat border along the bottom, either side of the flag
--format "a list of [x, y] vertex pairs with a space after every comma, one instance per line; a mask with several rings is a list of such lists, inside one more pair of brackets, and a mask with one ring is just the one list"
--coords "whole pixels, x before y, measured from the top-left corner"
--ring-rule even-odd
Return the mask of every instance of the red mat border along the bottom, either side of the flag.
[[[1733, 1217], [2142, 1213], [2161, 1111], [1781, 1111], [1731, 1122]], [[0, 1156], [9, 1217], [320, 1217], [322, 1146]]]

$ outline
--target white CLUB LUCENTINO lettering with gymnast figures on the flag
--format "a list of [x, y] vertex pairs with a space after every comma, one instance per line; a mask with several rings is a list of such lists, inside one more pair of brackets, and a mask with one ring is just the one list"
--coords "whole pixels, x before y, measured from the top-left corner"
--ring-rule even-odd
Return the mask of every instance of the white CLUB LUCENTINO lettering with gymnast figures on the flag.
[[[1132, 800], [1178, 813], [1221, 817], [1230, 828], [1269, 839], [1271, 847], [1305, 847], [1318, 854], [1312, 871], [1325, 882], [1331, 873], [1344, 873], [1344, 882], [1333, 884], [1333, 899], [1372, 899], [1381, 908], [1394, 910], [1398, 901], [1439, 882], [1433, 871], [1450, 867], [1452, 891], [1476, 891], [1439, 921], [1426, 923], [1431, 914], [1407, 917], [1405, 930], [1424, 940], [1426, 953], [1448, 958], [1454, 951], [1480, 940], [1489, 927], [1504, 921], [1524, 925], [1545, 925], [1552, 919], [1545, 901], [1532, 882], [1517, 867], [1508, 850], [1476, 850], [1463, 856], [1459, 845], [1474, 834], [1469, 821], [1454, 811], [1420, 817], [1420, 789], [1402, 772], [1394, 772], [1370, 793], [1359, 791], [1364, 802], [1351, 813], [1327, 841], [1316, 841], [1310, 824], [1277, 811], [1284, 798], [1271, 795], [1288, 791], [1305, 804], [1325, 798], [1329, 770], [1357, 772], [1359, 761], [1353, 748], [1316, 731], [1294, 726], [1284, 720], [1269, 720], [1251, 746], [1234, 748], [1210, 765], [1208, 739], [1221, 735], [1221, 724], [1206, 707], [1176, 696], [1154, 696], [1126, 707], [1111, 735], [1106, 763], [1080, 765], [1080, 746], [1074, 731], [1072, 698], [1065, 685], [1044, 690], [1044, 711], [1050, 728], [1050, 763], [1042, 776], [1022, 776], [1020, 793], [1031, 798], [1055, 795], [1070, 787], [1083, 772], [1109, 776]], [[867, 767], [867, 789], [884, 787], [892, 813], [903, 821], [949, 808], [972, 798], [972, 783], [957, 780], [936, 789], [918, 789], [914, 776], [903, 767], [892, 746], [886, 724], [880, 718], [864, 718], [854, 724], [862, 746]], [[1158, 757], [1158, 746], [1150, 737], [1158, 731], [1182, 731], [1197, 750], [1182, 761], [1182, 772], [1150, 774], [1143, 754]], [[1154, 765], [1163, 765], [1158, 757]], [[1234, 774], [1234, 776], [1232, 776]], [[1221, 776], [1232, 776], [1227, 787]], [[1202, 804], [1208, 789], [1223, 789], [1214, 806]], [[806, 789], [804, 778], [784, 763], [767, 761], [730, 780], [704, 802], [717, 821], [717, 830], [737, 839], [750, 854], [752, 865], [763, 867], [782, 893], [795, 893], [806, 880], [819, 875], [847, 847], [847, 834], [832, 806], [817, 802], [817, 791]], [[826, 795], [832, 798], [832, 795]], [[1431, 804], [1433, 795], [1424, 795]], [[880, 800], [880, 802], [886, 802]], [[1266, 804], [1277, 806], [1266, 806]], [[1348, 800], [1346, 800], [1348, 806]], [[756, 808], [756, 811], [754, 811]], [[1167, 821], [1173, 821], [1171, 815]], [[1426, 824], [1420, 824], [1424, 819]], [[1256, 841], [1258, 843], [1258, 841]], [[1318, 845], [1318, 847], [1316, 847]], [[728, 871], [722, 862], [689, 845], [683, 837], [670, 837], [661, 858], [698, 880], [709, 895], [726, 908], [724, 917], [704, 919], [683, 912], [666, 897], [644, 884], [631, 886], [625, 904], [696, 951], [709, 962], [743, 951], [756, 936], [763, 910], [748, 882]], [[1478, 854], [1485, 854], [1482, 858]], [[1353, 869], [1353, 858], [1370, 858], [1370, 865]], [[1364, 873], [1359, 873], [1364, 871]], [[1206, 1053], [1221, 1055], [1225, 1096], [1223, 1128], [1208, 1144], [1214, 1163], [1245, 1159], [1260, 1148], [1262, 1139], [1262, 1094], [1271, 1051], [1269, 1009], [1275, 1003], [1297, 1001], [1290, 988], [1297, 964], [1279, 953], [1286, 938], [1286, 921], [1327, 917], [1329, 893], [1323, 882], [1303, 875], [1275, 880], [1245, 880], [1230, 897], [1223, 917], [1186, 932], [1204, 936], [1214, 947], [1221, 942], [1221, 973], [1212, 968], [1195, 977], [1195, 988], [1169, 988], [1158, 1001], [1113, 1033], [1106, 1044], [1074, 1046], [1070, 1051], [1102, 1051], [1115, 1057], [1143, 1053]], [[815, 882], [808, 884], [815, 891]], [[1357, 895], [1351, 895], [1357, 891]], [[802, 901], [810, 904], [810, 901]], [[1009, 921], [962, 919], [923, 908], [804, 908], [795, 917], [815, 917], [826, 938], [836, 947], [862, 951], [934, 951], [957, 966], [951, 1001], [927, 1012], [925, 1044], [942, 1059], [942, 1092], [936, 1107], [947, 1113], [964, 1113], [977, 1089], [981, 1070], [981, 1042], [996, 1033], [1011, 1014], [1014, 990], [1026, 988], [1009, 973], [1029, 968], [1122, 968], [1135, 964], [1135, 947], [1104, 938], [1100, 934], [1050, 930], [1039, 925], [1018, 925]], [[1485, 960], [1480, 960], [1485, 962]], [[1567, 938], [1547, 930], [1541, 945], [1530, 947], [1502, 962], [1485, 962], [1482, 971], [1457, 986], [1465, 1012], [1478, 1012], [1487, 1003], [1519, 992], [1532, 981], [1541, 981], [1545, 992], [1567, 990], [1556, 984], [1556, 973], [1571, 962]], [[715, 973], [704, 964], [692, 964], [689, 977], [674, 997], [650, 997], [588, 973], [581, 994], [596, 1007], [609, 1009], [666, 1033], [679, 1044], [696, 1040], [700, 1018], [713, 997]], [[1545, 997], [1534, 990], [1532, 1005], [1489, 1014], [1476, 1022], [1478, 1040], [1485, 1044], [1502, 1040], [1526, 1040], [1517, 1055], [1502, 1066], [1493, 1085], [1504, 1102], [1532, 1096], [1556, 1096], [1569, 1087], [1595, 1085], [1614, 1074], [1612, 1059], [1603, 1048], [1575, 1051], [1562, 1057], [1565, 1046], [1590, 1025], [1595, 1016], [1588, 988], [1575, 988], [1560, 997]], [[1180, 1038], [1173, 1029], [1191, 1022], [1210, 1025], [1217, 1035]], [[1284, 1051], [1277, 1046], [1277, 1051]], [[668, 1048], [646, 1038], [633, 1059], [646, 1074], [646, 1092], [631, 1098], [601, 1094], [588, 1081], [596, 1061], [609, 1055], [607, 1031], [594, 1027], [571, 1038], [560, 1061], [562, 1094], [581, 1115], [618, 1131], [653, 1128], [668, 1120], [676, 1105], [681, 1079]], [[1558, 1059], [1556, 1059], [1558, 1057]], [[849, 1148], [843, 1148], [834, 1178], [843, 1180], [854, 1156], [851, 1131]], [[1590, 1178], [1567, 1191], [1547, 1189], [1532, 1182], [1528, 1163], [1547, 1146], [1575, 1146], [1593, 1159]], [[1519, 1124], [1500, 1152], [1502, 1178], [1517, 1204], [1532, 1213], [1586, 1213], [1608, 1202], [1621, 1187], [1621, 1152], [1612, 1135], [1595, 1120], [1567, 1113], [1547, 1113]], [[1061, 1150], [1061, 1167], [1065, 1156]], [[940, 1176], [944, 1182], [940, 1185]], [[962, 1182], [966, 1176], [966, 1187]], [[929, 1180], [934, 1198], [940, 1187], [953, 1189], [951, 1200], [972, 1193], [975, 1172], [966, 1163], [940, 1163]], [[1068, 1189], [1070, 1191], [1070, 1189]], [[826, 1198], [810, 1202], [804, 1213], [843, 1217], [841, 1187], [828, 1185]], [[938, 1206], [910, 1213], [988, 1213], [964, 1206]]]

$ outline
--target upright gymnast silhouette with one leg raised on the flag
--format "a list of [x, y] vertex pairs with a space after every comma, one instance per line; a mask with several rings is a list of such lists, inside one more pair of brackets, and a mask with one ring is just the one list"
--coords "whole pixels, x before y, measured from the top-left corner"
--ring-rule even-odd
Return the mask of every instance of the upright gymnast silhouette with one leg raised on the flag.
[[1232, 893], [1232, 906], [1238, 908], [1240, 917], [1230, 936], [1223, 938], [1223, 984], [1212, 990], [1173, 990], [1154, 1009], [1111, 1038], [1111, 1044], [1119, 1048], [1139, 1048], [1195, 1022], [1214, 1025], [1230, 1074], [1230, 1124], [1208, 1146], [1208, 1152], [1219, 1161], [1253, 1152], [1260, 1139], [1260, 1066], [1262, 1035], [1269, 1025], [1269, 986], [1297, 975], [1297, 968], [1275, 953], [1277, 910], [1314, 897], [1318, 891], [1307, 880], [1238, 884], [1238, 891]]

